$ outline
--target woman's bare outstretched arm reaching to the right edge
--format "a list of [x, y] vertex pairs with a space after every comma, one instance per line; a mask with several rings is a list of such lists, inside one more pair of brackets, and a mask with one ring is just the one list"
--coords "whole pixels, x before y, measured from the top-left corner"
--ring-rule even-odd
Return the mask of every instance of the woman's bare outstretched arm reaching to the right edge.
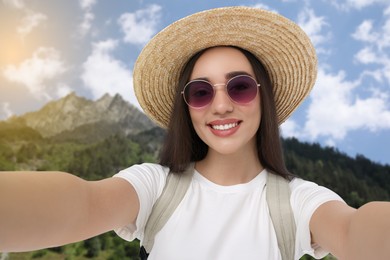
[[310, 222], [312, 240], [340, 260], [390, 259], [390, 203], [354, 209], [342, 202], [320, 206]]

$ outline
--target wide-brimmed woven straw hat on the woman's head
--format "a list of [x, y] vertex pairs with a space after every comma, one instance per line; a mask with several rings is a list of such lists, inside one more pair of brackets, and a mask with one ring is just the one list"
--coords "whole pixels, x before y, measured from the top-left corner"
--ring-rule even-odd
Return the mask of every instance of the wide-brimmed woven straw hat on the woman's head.
[[246, 49], [264, 64], [273, 84], [279, 124], [314, 85], [316, 53], [298, 25], [258, 8], [217, 8], [172, 23], [144, 47], [134, 65], [133, 78], [145, 113], [166, 128], [186, 62], [200, 50], [223, 45]]

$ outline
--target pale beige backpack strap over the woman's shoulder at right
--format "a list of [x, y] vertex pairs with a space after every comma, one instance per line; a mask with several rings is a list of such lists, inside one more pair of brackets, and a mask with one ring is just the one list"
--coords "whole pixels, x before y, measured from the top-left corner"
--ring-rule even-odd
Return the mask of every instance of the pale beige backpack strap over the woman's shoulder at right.
[[293, 260], [295, 254], [296, 226], [290, 195], [289, 181], [268, 172], [267, 204], [283, 260]]

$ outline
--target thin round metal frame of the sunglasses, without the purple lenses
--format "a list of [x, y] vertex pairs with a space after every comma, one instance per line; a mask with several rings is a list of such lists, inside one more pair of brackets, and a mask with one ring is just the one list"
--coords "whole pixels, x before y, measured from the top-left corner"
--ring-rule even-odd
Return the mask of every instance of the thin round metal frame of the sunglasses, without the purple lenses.
[[[250, 78], [250, 79], [253, 80], [253, 82], [256, 84], [256, 95], [253, 97], [253, 99], [251, 99], [250, 101], [248, 101], [248, 102], [246, 102], [246, 103], [235, 101], [235, 100], [229, 95], [229, 92], [228, 92], [228, 90], [227, 90], [227, 86], [229, 85], [229, 83], [230, 83], [232, 80], [237, 79], [237, 78], [239, 78], [239, 77]], [[189, 104], [189, 102], [187, 102], [187, 100], [186, 100], [186, 96], [185, 96], [186, 88], [187, 88], [187, 86], [189, 86], [191, 83], [194, 83], [194, 82], [204, 82], [204, 83], [207, 83], [207, 84], [209, 84], [209, 85], [212, 87], [212, 89], [213, 89], [213, 97], [210, 99], [210, 102], [207, 103], [207, 104], [204, 105], [204, 106], [201, 106], [201, 107], [194, 107], [194, 106], [191, 106], [191, 105]], [[216, 93], [216, 90], [215, 90], [215, 87], [216, 87], [216, 86], [224, 86], [224, 89], [225, 89], [226, 94], [228, 95], [230, 101], [232, 101], [233, 103], [238, 104], [238, 105], [243, 105], [243, 104], [249, 104], [250, 102], [252, 102], [252, 101], [257, 97], [257, 95], [258, 95], [258, 93], [259, 93], [259, 87], [260, 87], [261, 85], [260, 85], [259, 83], [257, 83], [257, 81], [256, 81], [255, 78], [253, 78], [253, 77], [250, 76], [250, 75], [246, 75], [246, 74], [241, 74], [241, 75], [234, 76], [234, 77], [230, 78], [226, 83], [216, 83], [216, 84], [211, 84], [211, 82], [209, 82], [209, 81], [207, 81], [207, 80], [203, 80], [203, 79], [194, 79], [194, 80], [191, 80], [191, 81], [187, 82], [187, 84], [184, 86], [183, 90], [181, 91], [181, 94], [182, 94], [182, 96], [183, 96], [184, 102], [185, 102], [189, 107], [191, 107], [191, 108], [193, 108], [193, 109], [202, 109], [202, 108], [207, 107], [208, 105], [210, 105], [210, 104], [213, 102], [214, 97], [215, 97], [215, 93]]]

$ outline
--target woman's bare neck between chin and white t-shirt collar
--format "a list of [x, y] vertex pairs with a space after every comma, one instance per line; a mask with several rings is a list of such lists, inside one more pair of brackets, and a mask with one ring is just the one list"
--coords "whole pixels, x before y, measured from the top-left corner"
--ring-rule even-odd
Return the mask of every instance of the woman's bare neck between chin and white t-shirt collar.
[[219, 154], [209, 151], [206, 158], [195, 164], [196, 170], [210, 181], [219, 185], [247, 183], [262, 170], [256, 153]]

